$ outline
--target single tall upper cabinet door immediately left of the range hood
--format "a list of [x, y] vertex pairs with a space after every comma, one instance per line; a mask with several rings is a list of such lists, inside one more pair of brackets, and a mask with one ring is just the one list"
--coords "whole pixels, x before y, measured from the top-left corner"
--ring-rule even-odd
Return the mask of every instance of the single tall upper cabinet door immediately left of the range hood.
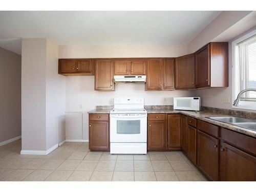
[[95, 60], [95, 90], [114, 91], [113, 62], [111, 59]]

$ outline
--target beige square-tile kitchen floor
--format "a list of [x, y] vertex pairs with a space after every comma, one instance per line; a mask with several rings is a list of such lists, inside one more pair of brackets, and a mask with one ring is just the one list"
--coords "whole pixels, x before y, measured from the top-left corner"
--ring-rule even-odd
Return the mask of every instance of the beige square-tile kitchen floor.
[[66, 142], [52, 153], [20, 155], [21, 140], [0, 146], [0, 181], [207, 181], [182, 152], [111, 155], [88, 142]]

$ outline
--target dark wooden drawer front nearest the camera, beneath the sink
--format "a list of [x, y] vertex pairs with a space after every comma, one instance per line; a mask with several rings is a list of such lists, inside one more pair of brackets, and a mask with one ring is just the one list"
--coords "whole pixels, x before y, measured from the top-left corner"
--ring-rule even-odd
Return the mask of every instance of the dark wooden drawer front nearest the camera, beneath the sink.
[[221, 139], [256, 155], [256, 139], [221, 127]]

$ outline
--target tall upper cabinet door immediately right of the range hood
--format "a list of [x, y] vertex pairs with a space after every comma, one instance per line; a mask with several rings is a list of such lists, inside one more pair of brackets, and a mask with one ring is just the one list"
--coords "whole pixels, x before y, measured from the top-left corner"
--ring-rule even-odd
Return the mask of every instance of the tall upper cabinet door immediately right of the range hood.
[[163, 89], [163, 59], [147, 59], [147, 90]]

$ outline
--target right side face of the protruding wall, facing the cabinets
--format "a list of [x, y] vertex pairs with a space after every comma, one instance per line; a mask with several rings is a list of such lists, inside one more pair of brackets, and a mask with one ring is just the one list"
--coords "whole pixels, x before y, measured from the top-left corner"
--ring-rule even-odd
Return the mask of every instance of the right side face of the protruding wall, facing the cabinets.
[[46, 139], [49, 150], [58, 144], [59, 117], [65, 115], [66, 78], [58, 74], [58, 46], [47, 40], [46, 50]]

